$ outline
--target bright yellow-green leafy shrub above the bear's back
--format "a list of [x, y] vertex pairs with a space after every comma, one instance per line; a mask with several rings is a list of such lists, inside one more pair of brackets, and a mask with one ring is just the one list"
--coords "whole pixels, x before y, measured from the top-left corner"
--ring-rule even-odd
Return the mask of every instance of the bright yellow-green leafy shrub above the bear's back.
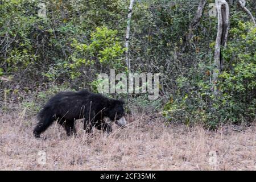
[[90, 43], [79, 43], [73, 40], [71, 46], [75, 50], [70, 56], [71, 62], [65, 63], [72, 80], [81, 80], [89, 77], [96, 79], [98, 73], [109, 73], [110, 69], [117, 72], [127, 72], [123, 60], [122, 42], [117, 37], [117, 30], [107, 27], [98, 27], [90, 35]]

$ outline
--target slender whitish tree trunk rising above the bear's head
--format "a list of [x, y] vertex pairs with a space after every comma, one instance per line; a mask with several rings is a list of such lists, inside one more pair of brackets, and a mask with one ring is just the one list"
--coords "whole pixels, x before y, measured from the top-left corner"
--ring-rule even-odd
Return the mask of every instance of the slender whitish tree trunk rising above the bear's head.
[[127, 18], [127, 28], [126, 28], [126, 37], [125, 37], [125, 61], [129, 72], [131, 72], [131, 64], [129, 59], [129, 40], [130, 40], [130, 27], [131, 27], [131, 14], [133, 13], [133, 3], [135, 0], [130, 0], [129, 13]]

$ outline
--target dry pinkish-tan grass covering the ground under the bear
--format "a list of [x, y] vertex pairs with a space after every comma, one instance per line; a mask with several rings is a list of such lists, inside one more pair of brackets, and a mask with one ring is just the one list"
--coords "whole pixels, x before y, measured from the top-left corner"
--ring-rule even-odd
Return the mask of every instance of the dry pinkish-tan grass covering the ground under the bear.
[[[46, 139], [36, 139], [31, 125], [36, 121], [26, 115], [26, 110], [0, 113], [2, 170], [256, 170], [255, 124], [207, 131], [167, 127], [160, 117], [138, 114], [109, 137], [96, 130], [85, 134], [77, 122], [77, 137], [52, 125], [42, 134]], [[45, 165], [37, 162], [39, 151], [46, 152]]]

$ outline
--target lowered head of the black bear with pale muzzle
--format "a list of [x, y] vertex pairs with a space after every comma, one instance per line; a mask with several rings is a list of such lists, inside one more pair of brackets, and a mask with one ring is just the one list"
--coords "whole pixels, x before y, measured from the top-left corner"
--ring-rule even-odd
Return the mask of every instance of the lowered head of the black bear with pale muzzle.
[[125, 109], [123, 105], [125, 102], [121, 100], [110, 100], [110, 104], [108, 107], [108, 111], [106, 113], [106, 117], [108, 117], [111, 121], [114, 121], [118, 126], [125, 126]]

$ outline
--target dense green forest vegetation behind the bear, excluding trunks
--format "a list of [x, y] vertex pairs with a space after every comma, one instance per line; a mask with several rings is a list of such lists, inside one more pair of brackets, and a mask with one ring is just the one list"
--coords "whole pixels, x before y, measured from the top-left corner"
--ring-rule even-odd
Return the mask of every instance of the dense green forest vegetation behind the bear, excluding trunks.
[[[208, 1], [190, 42], [185, 36], [199, 1], [135, 1], [129, 57], [133, 73], [161, 73], [160, 97], [123, 97], [130, 105], [162, 112], [170, 122], [252, 122], [256, 117], [256, 28], [250, 17], [229, 2], [228, 46], [222, 51], [220, 94], [212, 90], [217, 17]], [[127, 73], [125, 33], [129, 1], [0, 1], [0, 106], [8, 101], [38, 110], [40, 101], [61, 89], [97, 91], [97, 75], [110, 68]], [[40, 5], [40, 6], [39, 6]], [[255, 17], [256, 3], [246, 7]], [[28, 95], [39, 98], [28, 101]], [[15, 99], [13, 99], [15, 98]], [[151, 108], [151, 109], [148, 109]]]

